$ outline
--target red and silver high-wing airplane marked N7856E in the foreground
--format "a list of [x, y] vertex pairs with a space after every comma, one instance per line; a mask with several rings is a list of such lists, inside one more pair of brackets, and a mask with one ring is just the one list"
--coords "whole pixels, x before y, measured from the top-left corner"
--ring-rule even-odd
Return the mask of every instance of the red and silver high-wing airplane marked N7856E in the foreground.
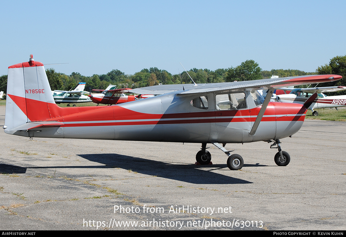
[[159, 94], [114, 106], [58, 107], [53, 99], [44, 65], [29, 62], [8, 68], [4, 131], [25, 137], [108, 139], [201, 143], [196, 155], [200, 164], [209, 164], [207, 144], [227, 156], [231, 170], [243, 167], [243, 158], [224, 148], [226, 143], [265, 141], [277, 148], [274, 161], [290, 162], [281, 150], [280, 139], [291, 136], [302, 126], [304, 105], [270, 102], [257, 92], [290, 85], [330, 82], [339, 75], [310, 75], [210, 84], [156, 85], [131, 90], [139, 94]]

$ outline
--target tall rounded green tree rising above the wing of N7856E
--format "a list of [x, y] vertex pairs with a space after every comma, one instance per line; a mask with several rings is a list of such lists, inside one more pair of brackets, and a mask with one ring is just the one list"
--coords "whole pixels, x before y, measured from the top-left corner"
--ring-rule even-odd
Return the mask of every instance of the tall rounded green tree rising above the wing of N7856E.
[[246, 60], [237, 67], [230, 67], [227, 71], [226, 82], [251, 81], [262, 79], [261, 67], [253, 60]]

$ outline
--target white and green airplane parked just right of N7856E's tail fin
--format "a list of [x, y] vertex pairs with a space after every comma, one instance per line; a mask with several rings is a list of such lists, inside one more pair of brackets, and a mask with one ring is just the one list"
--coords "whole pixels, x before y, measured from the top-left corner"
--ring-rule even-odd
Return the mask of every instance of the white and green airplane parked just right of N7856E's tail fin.
[[85, 82], [80, 82], [71, 91], [59, 91], [55, 90], [52, 91], [53, 98], [55, 103], [67, 103], [67, 107], [70, 107], [70, 103], [73, 104], [73, 107], [76, 107], [75, 103], [85, 103], [85, 102], [92, 102], [90, 97], [87, 95], [84, 95], [85, 92], [89, 93], [87, 91], [83, 91], [85, 87]]

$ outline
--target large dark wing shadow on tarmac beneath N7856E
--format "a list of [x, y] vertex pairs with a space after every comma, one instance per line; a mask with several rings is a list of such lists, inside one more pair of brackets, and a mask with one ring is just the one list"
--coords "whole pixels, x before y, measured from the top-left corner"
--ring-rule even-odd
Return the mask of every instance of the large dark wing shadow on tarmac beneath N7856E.
[[[89, 161], [98, 162], [107, 165], [109, 168], [119, 167], [125, 170], [133, 170], [138, 173], [147, 175], [156, 175], [166, 179], [183, 181], [194, 184], [247, 184], [252, 183], [246, 180], [231, 177], [232, 172], [228, 170], [227, 165], [193, 165], [186, 163], [166, 163], [160, 161], [153, 161], [133, 156], [126, 156], [120, 154], [83, 154], [78, 155]], [[105, 158], [107, 157], [107, 158]], [[106, 166], [106, 167], [107, 167]], [[244, 165], [245, 166], [245, 165]], [[200, 168], [208, 168], [202, 170]], [[211, 172], [227, 168], [225, 175]], [[229, 176], [228, 176], [229, 175]]]

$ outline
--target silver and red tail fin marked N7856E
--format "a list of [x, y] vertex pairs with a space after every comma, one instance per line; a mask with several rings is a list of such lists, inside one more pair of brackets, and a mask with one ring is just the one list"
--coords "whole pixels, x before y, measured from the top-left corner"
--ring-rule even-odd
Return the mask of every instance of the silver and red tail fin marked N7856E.
[[44, 66], [35, 62], [32, 54], [29, 62], [8, 67], [6, 133], [27, 122], [52, 118], [55, 107]]

